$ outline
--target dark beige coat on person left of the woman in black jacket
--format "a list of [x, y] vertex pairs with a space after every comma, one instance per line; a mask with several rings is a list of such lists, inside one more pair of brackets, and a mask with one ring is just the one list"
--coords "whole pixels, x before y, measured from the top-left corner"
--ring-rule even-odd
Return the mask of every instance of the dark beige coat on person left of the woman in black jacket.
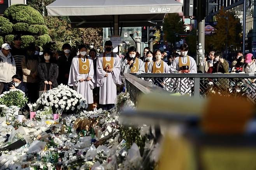
[[[38, 66], [38, 60], [32, 60], [28, 59], [28, 62], [26, 63], [26, 57], [23, 57], [21, 60], [21, 67], [23, 72], [23, 82], [26, 83], [37, 83], [37, 66]], [[36, 77], [33, 78], [32, 75], [35, 73]]]

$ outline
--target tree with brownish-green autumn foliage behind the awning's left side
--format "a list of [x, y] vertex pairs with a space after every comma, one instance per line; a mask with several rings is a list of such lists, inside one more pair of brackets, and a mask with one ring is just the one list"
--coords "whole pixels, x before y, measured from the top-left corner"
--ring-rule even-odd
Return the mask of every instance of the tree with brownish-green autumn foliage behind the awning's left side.
[[70, 43], [76, 48], [80, 44], [91, 45], [95, 49], [102, 49], [102, 28], [72, 28], [67, 16], [47, 16], [46, 6], [55, 0], [27, 0], [28, 5], [37, 9], [44, 17], [48, 33], [55, 44], [49, 46], [54, 50], [61, 50], [63, 43]]

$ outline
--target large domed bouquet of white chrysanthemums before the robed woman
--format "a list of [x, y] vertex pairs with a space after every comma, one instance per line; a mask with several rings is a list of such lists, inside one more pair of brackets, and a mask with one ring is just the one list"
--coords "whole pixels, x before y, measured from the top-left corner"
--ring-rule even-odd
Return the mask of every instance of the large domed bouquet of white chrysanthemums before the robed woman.
[[42, 94], [37, 105], [49, 106], [53, 111], [61, 109], [65, 113], [79, 113], [88, 106], [81, 94], [62, 84]]

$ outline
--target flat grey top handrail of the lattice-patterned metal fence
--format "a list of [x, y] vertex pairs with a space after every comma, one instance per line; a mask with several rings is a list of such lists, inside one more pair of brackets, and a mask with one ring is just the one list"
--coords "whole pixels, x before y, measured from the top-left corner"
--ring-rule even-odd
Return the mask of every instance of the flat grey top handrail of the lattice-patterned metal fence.
[[219, 73], [219, 74], [201, 74], [201, 73], [130, 73], [139, 78], [256, 78], [256, 74], [239, 73]]

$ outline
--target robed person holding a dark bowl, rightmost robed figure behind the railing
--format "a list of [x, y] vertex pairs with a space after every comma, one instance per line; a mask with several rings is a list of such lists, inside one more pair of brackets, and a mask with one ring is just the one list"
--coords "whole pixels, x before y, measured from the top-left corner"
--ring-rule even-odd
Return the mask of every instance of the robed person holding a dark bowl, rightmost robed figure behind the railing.
[[[188, 45], [182, 44], [181, 55], [169, 66], [171, 73], [197, 73], [195, 60], [187, 54]], [[191, 88], [194, 86], [194, 81], [190, 78], [173, 78], [171, 82], [173, 90], [180, 94], [191, 94]]]

